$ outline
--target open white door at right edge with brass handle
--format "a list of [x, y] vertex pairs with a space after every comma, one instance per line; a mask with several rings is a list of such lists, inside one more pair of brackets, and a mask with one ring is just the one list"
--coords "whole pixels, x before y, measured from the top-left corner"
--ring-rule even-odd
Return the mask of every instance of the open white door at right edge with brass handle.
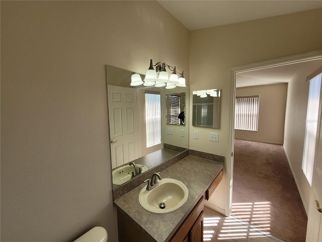
[[[321, 92], [322, 93], [322, 92]], [[306, 242], [322, 242], [322, 134], [321, 134], [321, 96], [318, 108], [315, 154], [313, 163], [312, 186], [310, 191], [309, 210], [307, 216]]]

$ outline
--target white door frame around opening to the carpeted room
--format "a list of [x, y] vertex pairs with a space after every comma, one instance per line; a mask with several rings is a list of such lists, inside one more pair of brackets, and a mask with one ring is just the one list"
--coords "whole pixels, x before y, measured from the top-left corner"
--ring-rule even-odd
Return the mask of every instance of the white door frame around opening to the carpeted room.
[[264, 62], [252, 63], [243, 66], [230, 68], [230, 107], [229, 107], [229, 131], [228, 131], [228, 149], [226, 162], [226, 182], [227, 182], [227, 199], [225, 204], [225, 216], [231, 215], [232, 201], [232, 179], [233, 179], [233, 141], [234, 141], [234, 104], [236, 91], [236, 74], [256, 71], [280, 66], [286, 66], [296, 63], [314, 61], [322, 58], [322, 49], [309, 51], [301, 54], [289, 55], [275, 59], [269, 59]]

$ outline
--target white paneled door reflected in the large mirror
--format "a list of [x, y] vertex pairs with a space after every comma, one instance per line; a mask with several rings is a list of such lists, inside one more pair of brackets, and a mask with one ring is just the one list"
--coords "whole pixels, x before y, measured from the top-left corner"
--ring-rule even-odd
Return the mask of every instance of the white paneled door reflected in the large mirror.
[[139, 157], [136, 89], [108, 85], [112, 168]]

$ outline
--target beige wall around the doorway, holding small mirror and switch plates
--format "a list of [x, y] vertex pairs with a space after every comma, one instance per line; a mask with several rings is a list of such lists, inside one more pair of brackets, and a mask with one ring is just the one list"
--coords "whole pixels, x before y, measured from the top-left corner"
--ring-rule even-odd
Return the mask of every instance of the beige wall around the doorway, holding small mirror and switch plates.
[[[220, 129], [190, 126], [190, 149], [223, 155], [225, 175], [211, 203], [225, 210], [230, 172], [230, 68], [322, 48], [322, 9], [192, 31], [190, 34], [190, 92], [220, 88]], [[191, 101], [190, 101], [191, 104]], [[191, 107], [190, 107], [191, 108]], [[191, 110], [191, 109], [190, 109]], [[191, 120], [191, 117], [190, 117]], [[193, 138], [199, 131], [199, 140]], [[219, 134], [210, 142], [209, 133]]]

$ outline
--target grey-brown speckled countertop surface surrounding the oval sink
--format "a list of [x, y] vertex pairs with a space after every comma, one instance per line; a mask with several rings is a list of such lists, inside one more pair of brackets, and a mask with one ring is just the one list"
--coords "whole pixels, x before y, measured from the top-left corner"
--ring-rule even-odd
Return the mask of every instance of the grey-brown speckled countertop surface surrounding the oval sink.
[[163, 178], [182, 181], [189, 190], [187, 202], [168, 214], [153, 214], [141, 207], [138, 195], [146, 184], [133, 189], [114, 201], [114, 204], [155, 241], [169, 241], [222, 168], [223, 163], [189, 155], [160, 172]]

